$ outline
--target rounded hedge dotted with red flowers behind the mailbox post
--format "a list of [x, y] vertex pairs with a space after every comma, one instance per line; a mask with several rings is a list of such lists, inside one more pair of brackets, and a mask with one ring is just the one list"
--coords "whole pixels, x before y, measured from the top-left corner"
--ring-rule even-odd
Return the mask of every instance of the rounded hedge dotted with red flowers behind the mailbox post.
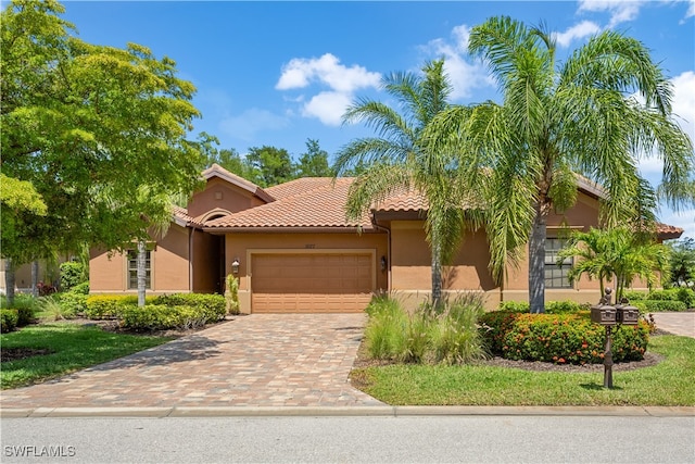
[[[508, 360], [556, 364], [603, 362], [605, 328], [589, 312], [527, 314], [495, 311], [480, 318], [490, 352]], [[612, 331], [614, 362], [640, 361], [648, 343], [648, 325], [617, 326]]]

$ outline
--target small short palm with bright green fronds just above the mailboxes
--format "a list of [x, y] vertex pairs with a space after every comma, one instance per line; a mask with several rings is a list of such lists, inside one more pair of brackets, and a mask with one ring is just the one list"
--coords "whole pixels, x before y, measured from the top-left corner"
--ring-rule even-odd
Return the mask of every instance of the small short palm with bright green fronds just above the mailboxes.
[[616, 302], [619, 302], [635, 277], [646, 281], [649, 288], [657, 284], [655, 272], [667, 272], [669, 250], [628, 227], [591, 228], [587, 233], [573, 233], [569, 246], [559, 251], [558, 261], [569, 256], [579, 258], [569, 278], [574, 280], [582, 274], [598, 278], [601, 294], [604, 294], [604, 280], [612, 280], [615, 276]]

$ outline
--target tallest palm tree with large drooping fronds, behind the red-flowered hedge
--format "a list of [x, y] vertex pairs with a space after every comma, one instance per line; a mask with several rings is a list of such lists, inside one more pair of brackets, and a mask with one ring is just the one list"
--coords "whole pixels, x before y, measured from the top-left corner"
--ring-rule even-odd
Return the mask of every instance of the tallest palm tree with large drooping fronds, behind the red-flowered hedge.
[[[603, 226], [644, 221], [641, 199], [654, 190], [639, 161], [664, 162], [657, 191], [679, 210], [694, 202], [692, 141], [672, 118], [671, 84], [635, 39], [606, 30], [557, 64], [552, 34], [492, 17], [472, 28], [468, 49], [489, 66], [503, 102], [452, 108], [430, 127], [457, 134], [462, 163], [488, 168], [493, 276], [502, 280], [528, 242], [529, 302], [543, 312], [546, 218], [574, 203], [577, 174], [603, 187]], [[442, 143], [451, 137], [430, 137]]]

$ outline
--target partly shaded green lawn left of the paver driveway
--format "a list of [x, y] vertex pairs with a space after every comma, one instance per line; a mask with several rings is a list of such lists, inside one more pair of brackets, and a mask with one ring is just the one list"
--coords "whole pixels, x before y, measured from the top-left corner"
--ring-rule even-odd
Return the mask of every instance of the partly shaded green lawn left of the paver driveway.
[[77, 324], [41, 324], [0, 336], [2, 350], [48, 349], [50, 354], [0, 364], [2, 389], [60, 377], [164, 343], [172, 338], [122, 335]]

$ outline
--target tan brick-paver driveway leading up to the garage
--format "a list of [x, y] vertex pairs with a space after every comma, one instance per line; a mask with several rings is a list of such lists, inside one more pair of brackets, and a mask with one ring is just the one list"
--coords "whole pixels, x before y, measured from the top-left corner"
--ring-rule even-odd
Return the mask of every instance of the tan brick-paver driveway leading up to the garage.
[[382, 404], [348, 375], [365, 314], [252, 314], [73, 375], [2, 391], [13, 407]]

